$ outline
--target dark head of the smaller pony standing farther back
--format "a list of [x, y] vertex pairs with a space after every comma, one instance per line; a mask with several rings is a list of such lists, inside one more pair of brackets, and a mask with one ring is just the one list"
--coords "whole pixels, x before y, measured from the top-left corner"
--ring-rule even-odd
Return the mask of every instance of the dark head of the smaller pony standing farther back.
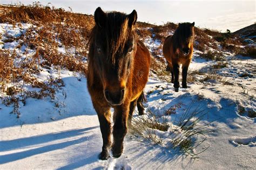
[[178, 51], [183, 53], [183, 55], [188, 55], [193, 47], [194, 22], [179, 24], [174, 34], [178, 39], [178, 42], [176, 42], [177, 44], [174, 46], [176, 48], [175, 51], [178, 49]]

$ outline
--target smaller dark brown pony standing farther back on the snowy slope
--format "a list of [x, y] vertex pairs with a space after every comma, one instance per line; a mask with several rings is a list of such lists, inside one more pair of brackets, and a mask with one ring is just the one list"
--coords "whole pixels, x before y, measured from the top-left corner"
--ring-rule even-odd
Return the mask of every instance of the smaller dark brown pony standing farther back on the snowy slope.
[[167, 69], [171, 71], [174, 91], [179, 91], [179, 66], [182, 64], [182, 87], [187, 88], [187, 69], [193, 56], [194, 22], [179, 24], [173, 36], [165, 38], [163, 45]]

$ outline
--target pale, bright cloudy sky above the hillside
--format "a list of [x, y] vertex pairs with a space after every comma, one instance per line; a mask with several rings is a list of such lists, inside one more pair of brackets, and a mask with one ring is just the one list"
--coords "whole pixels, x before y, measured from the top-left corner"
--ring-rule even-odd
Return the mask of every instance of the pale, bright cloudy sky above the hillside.
[[[0, 4], [31, 4], [36, 0], [0, 0]], [[152, 24], [166, 22], [195, 22], [200, 28], [225, 32], [237, 31], [256, 22], [256, 0], [174, 0], [174, 1], [39, 1], [43, 5], [54, 5], [56, 8], [72, 9], [73, 12], [92, 14], [98, 6], [104, 11], [138, 13], [138, 21]]]

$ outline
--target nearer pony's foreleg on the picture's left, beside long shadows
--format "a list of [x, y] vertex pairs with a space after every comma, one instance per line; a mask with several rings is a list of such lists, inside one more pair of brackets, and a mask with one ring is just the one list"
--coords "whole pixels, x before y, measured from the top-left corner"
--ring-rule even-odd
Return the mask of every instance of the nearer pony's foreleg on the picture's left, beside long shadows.
[[109, 156], [109, 148], [111, 146], [111, 112], [109, 106], [102, 106], [98, 102], [93, 102], [93, 106], [98, 114], [100, 131], [102, 132], [103, 146], [99, 159], [107, 160]]

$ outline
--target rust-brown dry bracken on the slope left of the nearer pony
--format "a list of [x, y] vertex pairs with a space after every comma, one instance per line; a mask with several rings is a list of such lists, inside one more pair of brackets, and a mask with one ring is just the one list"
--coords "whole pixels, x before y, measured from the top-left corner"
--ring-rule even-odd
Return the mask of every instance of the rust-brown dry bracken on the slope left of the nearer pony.
[[[18, 110], [19, 105], [25, 105], [27, 98], [54, 99], [56, 91], [64, 86], [61, 79], [38, 81], [35, 76], [31, 76], [32, 74], [38, 74], [43, 68], [50, 69], [52, 66], [86, 74], [86, 42], [94, 21], [92, 16], [50, 8], [39, 3], [0, 8], [1, 23], [11, 23], [13, 28], [21, 28], [21, 22], [35, 25], [26, 29], [25, 34], [20, 37], [5, 38], [5, 42], [16, 40], [19, 43], [16, 49], [26, 46], [27, 49], [34, 50], [30, 56], [17, 63], [20, 56], [15, 50], [0, 50], [2, 103], [6, 106], [12, 105], [12, 113], [17, 114], [18, 118], [21, 114]], [[58, 51], [59, 47], [65, 49], [64, 53]], [[41, 90], [25, 91], [23, 84], [19, 82]]]

